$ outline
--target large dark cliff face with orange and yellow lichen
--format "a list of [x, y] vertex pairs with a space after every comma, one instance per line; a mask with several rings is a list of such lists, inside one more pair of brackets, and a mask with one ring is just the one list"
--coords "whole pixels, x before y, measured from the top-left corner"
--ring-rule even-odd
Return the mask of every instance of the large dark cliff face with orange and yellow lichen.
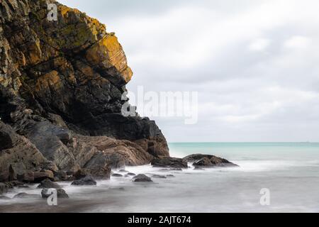
[[154, 121], [121, 115], [132, 75], [96, 19], [55, 1], [0, 0], [0, 180], [30, 170], [103, 175], [169, 156]]

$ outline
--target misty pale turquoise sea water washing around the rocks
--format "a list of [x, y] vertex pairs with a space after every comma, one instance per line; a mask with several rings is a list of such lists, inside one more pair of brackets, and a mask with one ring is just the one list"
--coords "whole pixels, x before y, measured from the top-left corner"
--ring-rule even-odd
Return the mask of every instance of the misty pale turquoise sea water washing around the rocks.
[[[318, 212], [319, 143], [171, 143], [171, 155], [206, 153], [240, 167], [163, 172], [150, 165], [125, 167], [135, 174], [174, 175], [135, 183], [111, 177], [95, 187], [60, 182], [69, 199], [48, 206], [37, 185], [14, 189], [38, 194], [33, 199], [0, 200], [0, 212]], [[189, 164], [191, 166], [191, 164]], [[116, 172], [116, 170], [114, 170]], [[260, 204], [269, 189], [270, 205]]]

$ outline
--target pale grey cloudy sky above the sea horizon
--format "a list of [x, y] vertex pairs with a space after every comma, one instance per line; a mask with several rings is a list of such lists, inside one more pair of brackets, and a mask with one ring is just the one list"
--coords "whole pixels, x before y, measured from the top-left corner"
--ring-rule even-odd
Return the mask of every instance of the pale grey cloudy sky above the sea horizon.
[[115, 32], [136, 92], [198, 92], [169, 142], [319, 142], [318, 0], [62, 0]]

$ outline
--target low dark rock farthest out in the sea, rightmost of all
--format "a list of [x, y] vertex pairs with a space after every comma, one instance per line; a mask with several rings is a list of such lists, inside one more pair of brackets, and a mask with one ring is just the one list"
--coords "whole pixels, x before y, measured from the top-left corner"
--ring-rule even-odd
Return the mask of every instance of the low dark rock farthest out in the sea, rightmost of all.
[[238, 167], [233, 162], [229, 162], [214, 155], [195, 154], [183, 158], [186, 162], [194, 162], [194, 167]]

